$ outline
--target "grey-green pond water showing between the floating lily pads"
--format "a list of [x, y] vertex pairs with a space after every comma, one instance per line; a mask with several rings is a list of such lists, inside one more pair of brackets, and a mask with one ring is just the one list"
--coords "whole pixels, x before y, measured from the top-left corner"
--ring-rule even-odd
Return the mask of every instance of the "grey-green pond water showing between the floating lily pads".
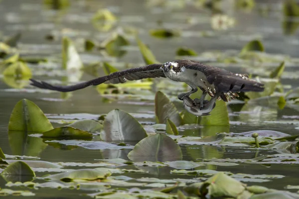
[[[153, 2], [153, 1], [152, 1]], [[176, 1], [175, 1], [176, 2]], [[173, 1], [173, 4], [175, 4]], [[183, 2], [183, 1], [182, 1]], [[227, 1], [227, 8], [224, 13], [236, 19], [233, 27], [227, 30], [214, 30], [211, 28], [211, 11], [208, 9], [194, 7], [191, 3], [176, 7], [170, 5], [165, 7], [150, 6], [149, 1], [145, 0], [76, 0], [64, 10], [48, 9], [38, 0], [2, 0], [0, 1], [0, 18], [2, 35], [12, 35], [18, 31], [22, 36], [18, 43], [20, 54], [24, 56], [35, 56], [45, 58], [61, 59], [61, 36], [67, 35], [74, 41], [82, 38], [90, 38], [103, 41], [109, 36], [109, 32], [100, 32], [90, 22], [90, 18], [100, 8], [108, 8], [120, 17], [119, 24], [123, 27], [135, 27], [139, 31], [140, 39], [149, 45], [149, 48], [160, 62], [173, 60], [176, 58], [175, 51], [178, 47], [188, 47], [195, 50], [198, 54], [204, 52], [238, 52], [242, 47], [252, 39], [261, 39], [269, 54], [278, 56], [289, 56], [296, 58], [299, 55], [298, 33], [293, 35], [284, 34], [283, 19], [281, 16], [282, 2], [280, 0], [259, 0], [256, 6], [250, 11], [236, 10]], [[179, 3], [179, 0], [177, 1]], [[170, 3], [171, 4], [171, 3]], [[269, 6], [270, 11], [267, 15], [262, 15], [261, 9]], [[194, 23], [187, 23], [186, 20], [192, 18]], [[160, 26], [157, 21], [162, 21]], [[180, 37], [159, 39], [149, 35], [152, 28], [168, 27], [182, 30]], [[200, 32], [206, 31], [210, 36], [199, 36]], [[54, 41], [46, 40], [46, 35], [56, 35]], [[132, 48], [128, 48], [123, 57], [109, 57], [100, 54], [98, 51], [84, 52], [79, 50], [84, 64], [96, 61], [111, 61], [118, 63], [118, 69], [125, 69], [125, 63], [131, 63], [134, 67], [145, 65], [142, 55], [139, 52], [133, 36], [129, 36]], [[192, 58], [190, 58], [192, 59]], [[224, 64], [217, 62], [213, 57], [198, 56], [195, 59], [209, 64], [225, 67], [232, 72], [253, 73], [260, 75], [261, 68], [266, 65], [253, 63], [253, 66], [238, 63]], [[242, 66], [241, 66], [242, 65]], [[274, 68], [279, 62], [269, 64], [267, 68]], [[51, 64], [29, 65], [32, 68], [33, 78], [38, 80], [61, 80], [63, 75], [59, 74], [61, 62], [52, 62]], [[58, 72], [53, 72], [51, 68], [57, 68]], [[298, 83], [298, 62], [288, 62], [285, 74], [282, 76], [284, 91], [299, 86]], [[255, 72], [256, 71], [256, 72]], [[100, 75], [104, 75], [102, 70]], [[293, 75], [293, 76], [292, 76]], [[94, 77], [84, 73], [80, 81], [93, 79]], [[58, 82], [59, 83], [59, 82]], [[165, 84], [171, 85], [170, 81]], [[165, 86], [167, 87], [167, 86]], [[27, 88], [27, 89], [26, 89]], [[33, 101], [53, 121], [53, 126], [61, 126], [57, 121], [72, 119], [95, 119], [99, 115], [107, 114], [113, 109], [124, 110], [135, 116], [143, 125], [154, 124], [154, 94], [152, 92], [150, 100], [134, 100], [130, 98], [119, 98], [110, 102], [103, 102], [96, 89], [86, 88], [73, 92], [67, 99], [63, 99], [62, 94], [58, 92], [33, 92], [33, 88], [26, 86], [25, 89], [11, 88], [4, 78], [0, 78], [0, 148], [4, 154], [13, 154], [11, 145], [8, 141], [7, 128], [10, 113], [21, 99]], [[165, 90], [165, 89], [164, 89]], [[169, 92], [168, 94], [170, 94]], [[175, 91], [172, 91], [175, 94]], [[173, 95], [175, 96], [175, 95]], [[179, 110], [183, 110], [182, 104], [175, 101]], [[253, 130], [275, 130], [296, 135], [299, 133], [299, 109], [285, 106], [283, 109], [278, 107], [264, 107], [260, 104], [251, 104], [246, 109], [241, 109], [242, 104], [229, 104], [228, 112], [230, 118], [229, 132], [240, 133]], [[241, 112], [240, 112], [241, 110]], [[89, 114], [85, 114], [89, 113]], [[56, 121], [56, 122], [55, 122]], [[180, 135], [186, 136], [208, 136], [219, 129], [208, 130], [201, 126], [179, 128]], [[221, 129], [221, 128], [220, 128]], [[222, 131], [221, 131], [222, 132]], [[196, 161], [198, 159], [211, 158], [231, 158], [231, 159], [251, 159], [261, 155], [277, 154], [279, 151], [268, 149], [256, 149], [251, 147], [236, 146], [210, 146], [210, 145], [180, 145], [183, 153], [183, 160]], [[122, 150], [96, 150], [83, 147], [68, 147], [60, 144], [59, 147], [47, 145], [43, 150], [35, 151], [34, 156], [40, 160], [48, 162], [76, 162], [76, 163], [96, 163], [99, 159], [122, 158], [129, 160], [127, 155], [131, 149]], [[26, 154], [23, 154], [26, 155]], [[78, 167], [67, 167], [77, 169]], [[122, 169], [145, 169], [136, 166], [123, 166]], [[271, 166], [260, 164], [238, 164], [236, 166], [216, 166], [206, 165], [196, 169], [210, 169], [216, 171], [227, 171], [245, 174], [267, 174], [283, 175], [282, 179], [270, 179], [268, 182], [245, 182], [248, 185], [261, 185], [272, 189], [285, 190], [287, 185], [298, 185], [298, 164], [272, 164]], [[146, 168], [149, 173], [128, 173], [126, 176], [139, 179], [141, 177], [150, 177], [158, 179], [184, 178], [193, 179], [195, 175], [176, 175], [171, 174], [171, 167]], [[46, 173], [37, 172], [37, 176], [43, 176]], [[0, 187], [4, 188], [6, 182], [1, 179]], [[25, 188], [21, 188], [25, 189]], [[82, 193], [94, 193], [87, 190], [30, 190], [35, 193], [32, 198], [83, 198]], [[296, 190], [291, 190], [296, 191]], [[30, 198], [30, 197], [29, 197]], [[89, 197], [86, 197], [89, 198]]]

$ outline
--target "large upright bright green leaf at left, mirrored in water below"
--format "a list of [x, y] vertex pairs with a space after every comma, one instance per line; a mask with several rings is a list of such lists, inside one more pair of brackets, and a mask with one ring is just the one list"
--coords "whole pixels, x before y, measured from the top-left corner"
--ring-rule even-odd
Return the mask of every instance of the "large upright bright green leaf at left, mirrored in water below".
[[45, 132], [51, 129], [52, 124], [35, 103], [23, 99], [15, 104], [10, 114], [8, 130]]

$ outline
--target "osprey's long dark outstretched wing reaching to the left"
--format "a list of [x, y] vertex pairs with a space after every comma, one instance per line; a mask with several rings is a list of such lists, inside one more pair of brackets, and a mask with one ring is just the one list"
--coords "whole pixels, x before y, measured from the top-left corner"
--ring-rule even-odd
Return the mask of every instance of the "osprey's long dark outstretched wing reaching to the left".
[[38, 82], [33, 79], [30, 79], [31, 81], [30, 85], [41, 89], [49, 89], [49, 90], [60, 91], [60, 92], [70, 92], [79, 89], [84, 89], [91, 85], [95, 86], [95, 85], [103, 84], [107, 81], [110, 81], [113, 84], [117, 84], [117, 83], [124, 83], [126, 82], [126, 80], [141, 80], [145, 78], [158, 78], [158, 77], [165, 78], [163, 70], [160, 68], [161, 66], [162, 64], [150, 64], [139, 68], [132, 68], [124, 71], [115, 72], [107, 76], [103, 76], [100, 78], [96, 78], [87, 82], [83, 82], [71, 86], [53, 86], [45, 82]]

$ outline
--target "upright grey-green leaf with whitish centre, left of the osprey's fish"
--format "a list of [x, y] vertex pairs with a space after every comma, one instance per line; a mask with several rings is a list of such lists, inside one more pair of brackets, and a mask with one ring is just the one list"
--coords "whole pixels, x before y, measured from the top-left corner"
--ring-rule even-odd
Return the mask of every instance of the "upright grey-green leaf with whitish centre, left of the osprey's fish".
[[147, 137], [143, 126], [129, 113], [114, 109], [104, 120], [104, 141], [139, 141]]

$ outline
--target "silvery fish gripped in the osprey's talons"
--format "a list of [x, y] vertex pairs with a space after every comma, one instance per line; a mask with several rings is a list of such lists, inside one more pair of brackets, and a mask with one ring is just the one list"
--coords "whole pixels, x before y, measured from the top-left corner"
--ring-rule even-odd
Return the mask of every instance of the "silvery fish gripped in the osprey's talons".
[[206, 116], [209, 115], [209, 113], [215, 108], [216, 106], [216, 100], [203, 100], [203, 106], [201, 107], [201, 104], [197, 103], [196, 101], [199, 99], [192, 100], [189, 97], [183, 98], [183, 106], [185, 110], [187, 110], [189, 113], [196, 115], [196, 116]]

